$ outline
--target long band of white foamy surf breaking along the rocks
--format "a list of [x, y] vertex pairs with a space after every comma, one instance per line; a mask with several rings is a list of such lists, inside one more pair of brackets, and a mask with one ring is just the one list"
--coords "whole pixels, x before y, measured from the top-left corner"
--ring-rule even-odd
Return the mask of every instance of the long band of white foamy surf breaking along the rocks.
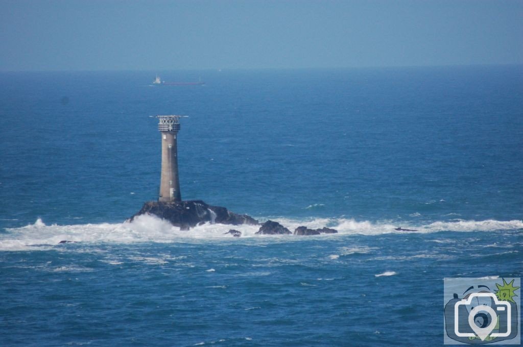
[[[132, 223], [100, 223], [100, 224], [76, 224], [76, 225], [46, 225], [40, 218], [34, 224], [20, 228], [8, 228], [7, 233], [0, 233], [0, 250], [27, 250], [27, 249], [49, 249], [54, 248], [60, 241], [73, 242], [114, 242], [119, 244], [130, 244], [134, 242], [177, 242], [190, 239], [217, 239], [237, 242], [245, 238], [259, 238], [264, 240], [304, 240], [335, 238], [339, 235], [382, 235], [382, 234], [410, 234], [410, 233], [435, 233], [441, 231], [451, 232], [491, 232], [496, 230], [523, 229], [523, 221], [463, 221], [460, 219], [452, 222], [434, 222], [427, 225], [405, 225], [404, 229], [395, 230], [398, 227], [393, 222], [369, 222], [356, 221], [347, 218], [316, 218], [305, 221], [289, 218], [271, 218], [287, 227], [291, 232], [299, 226], [311, 229], [328, 226], [338, 230], [338, 234], [323, 234], [319, 236], [293, 235], [255, 235], [259, 226], [255, 225], [224, 225], [206, 223], [196, 226], [191, 230], [180, 230], [169, 222], [153, 215], [141, 215]], [[229, 229], [236, 229], [242, 233], [242, 237], [233, 238], [226, 234]], [[348, 255], [353, 252], [367, 253], [371, 249], [346, 249], [340, 254]], [[336, 259], [336, 258], [332, 258]]]

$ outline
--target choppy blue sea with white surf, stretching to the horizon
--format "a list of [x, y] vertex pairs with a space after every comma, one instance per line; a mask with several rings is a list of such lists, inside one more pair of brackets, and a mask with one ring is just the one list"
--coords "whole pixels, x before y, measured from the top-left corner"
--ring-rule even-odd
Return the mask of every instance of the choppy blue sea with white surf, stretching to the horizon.
[[[521, 277], [523, 66], [155, 73], [0, 74], [0, 345], [441, 345]], [[173, 113], [184, 199], [339, 234], [125, 222]]]

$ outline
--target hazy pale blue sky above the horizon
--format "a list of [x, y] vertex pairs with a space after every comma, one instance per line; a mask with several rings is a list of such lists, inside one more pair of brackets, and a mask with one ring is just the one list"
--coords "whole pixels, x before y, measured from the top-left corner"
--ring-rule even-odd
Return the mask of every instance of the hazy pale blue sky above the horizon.
[[5, 1], [0, 70], [523, 63], [523, 1]]

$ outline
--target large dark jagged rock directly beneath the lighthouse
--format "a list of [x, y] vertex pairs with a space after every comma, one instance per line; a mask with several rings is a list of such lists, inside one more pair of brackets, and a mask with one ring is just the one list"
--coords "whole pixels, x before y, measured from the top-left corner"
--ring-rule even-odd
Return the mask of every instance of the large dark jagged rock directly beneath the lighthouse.
[[143, 205], [137, 214], [130, 218], [130, 221], [132, 222], [134, 217], [146, 213], [166, 219], [182, 230], [188, 230], [206, 222], [232, 225], [259, 224], [251, 216], [236, 214], [225, 207], [208, 205], [201, 200], [179, 202], [149, 201]]

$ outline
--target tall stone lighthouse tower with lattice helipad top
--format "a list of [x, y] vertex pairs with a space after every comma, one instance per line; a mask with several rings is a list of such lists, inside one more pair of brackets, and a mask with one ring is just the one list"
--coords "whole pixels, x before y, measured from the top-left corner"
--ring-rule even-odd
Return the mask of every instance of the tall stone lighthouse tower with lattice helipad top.
[[182, 115], [158, 115], [158, 130], [162, 134], [162, 176], [158, 201], [181, 201], [178, 179], [178, 149], [176, 136], [180, 131]]

